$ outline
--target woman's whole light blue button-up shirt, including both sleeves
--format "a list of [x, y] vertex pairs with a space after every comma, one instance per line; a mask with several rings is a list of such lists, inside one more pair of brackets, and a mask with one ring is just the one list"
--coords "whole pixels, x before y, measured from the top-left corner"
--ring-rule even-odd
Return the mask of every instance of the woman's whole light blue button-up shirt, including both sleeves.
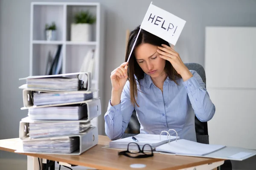
[[[167, 78], [163, 93], [157, 88], [149, 75], [145, 74], [138, 85], [135, 110], [140, 122], [140, 133], [160, 134], [162, 130], [175, 129], [180, 139], [196, 142], [195, 115], [201, 122], [212, 119], [215, 105], [209, 98], [205, 84], [196, 71], [190, 70], [193, 77], [175, 84]], [[122, 136], [128, 126], [134, 106], [130, 100], [130, 83], [126, 82], [118, 105], [108, 104], [105, 113], [105, 133], [115, 140]], [[170, 135], [175, 135], [170, 131]], [[166, 134], [166, 133], [165, 133]]]

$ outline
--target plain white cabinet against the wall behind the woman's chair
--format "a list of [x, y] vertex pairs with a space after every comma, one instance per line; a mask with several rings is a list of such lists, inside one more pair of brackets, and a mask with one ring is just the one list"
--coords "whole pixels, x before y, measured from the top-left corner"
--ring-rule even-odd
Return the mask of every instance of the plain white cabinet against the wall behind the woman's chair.
[[256, 27], [207, 27], [205, 71], [210, 144], [256, 149]]

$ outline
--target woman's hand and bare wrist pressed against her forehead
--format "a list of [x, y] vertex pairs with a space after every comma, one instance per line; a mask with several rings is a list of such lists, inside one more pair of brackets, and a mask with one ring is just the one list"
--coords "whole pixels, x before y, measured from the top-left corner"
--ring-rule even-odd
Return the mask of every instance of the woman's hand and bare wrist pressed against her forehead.
[[189, 69], [181, 60], [180, 54], [172, 49], [172, 47], [162, 44], [162, 47], [158, 46], [157, 48], [157, 52], [160, 54], [160, 57], [171, 62], [173, 68], [177, 71], [178, 74], [180, 74], [183, 81], [186, 81], [187, 79], [193, 77], [193, 74], [189, 71]]

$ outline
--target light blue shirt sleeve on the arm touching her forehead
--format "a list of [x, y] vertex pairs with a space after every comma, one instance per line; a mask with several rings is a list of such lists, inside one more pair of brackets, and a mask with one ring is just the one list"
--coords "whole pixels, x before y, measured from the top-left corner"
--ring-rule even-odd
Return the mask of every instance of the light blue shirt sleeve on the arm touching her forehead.
[[212, 103], [205, 88], [205, 83], [200, 75], [193, 70], [190, 70], [190, 72], [193, 74], [193, 77], [183, 82], [183, 85], [187, 91], [195, 115], [201, 122], [207, 122], [215, 114], [215, 105]]

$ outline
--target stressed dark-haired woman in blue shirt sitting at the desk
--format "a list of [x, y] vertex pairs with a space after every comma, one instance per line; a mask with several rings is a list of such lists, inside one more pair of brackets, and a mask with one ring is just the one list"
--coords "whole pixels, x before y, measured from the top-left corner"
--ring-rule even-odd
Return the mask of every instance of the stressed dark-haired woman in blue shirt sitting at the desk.
[[[139, 29], [131, 31], [125, 61]], [[122, 136], [134, 109], [140, 133], [175, 129], [180, 139], [195, 142], [195, 115], [207, 122], [215, 113], [198, 73], [184, 65], [168, 42], [145, 30], [141, 30], [129, 62], [113, 70], [110, 78], [112, 95], [104, 118], [111, 140]]]

